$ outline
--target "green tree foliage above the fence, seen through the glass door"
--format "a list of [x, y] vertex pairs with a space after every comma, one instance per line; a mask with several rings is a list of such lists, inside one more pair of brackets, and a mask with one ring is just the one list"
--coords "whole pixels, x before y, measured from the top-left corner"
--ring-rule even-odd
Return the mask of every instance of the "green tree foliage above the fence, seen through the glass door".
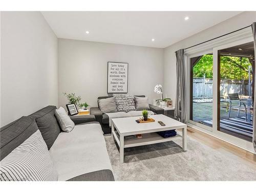
[[[203, 55], [193, 68], [193, 76], [204, 77], [205, 75], [205, 78], [212, 78], [212, 59], [212, 55]], [[251, 66], [251, 63], [246, 57], [221, 56], [221, 78], [248, 80], [248, 66]]]

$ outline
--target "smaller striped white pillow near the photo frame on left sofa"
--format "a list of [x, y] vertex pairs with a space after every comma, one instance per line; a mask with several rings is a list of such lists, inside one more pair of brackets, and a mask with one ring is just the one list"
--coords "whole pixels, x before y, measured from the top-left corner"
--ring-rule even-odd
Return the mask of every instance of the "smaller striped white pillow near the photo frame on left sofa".
[[74, 129], [75, 123], [70, 119], [70, 117], [67, 115], [67, 112], [64, 108], [62, 108], [62, 106], [59, 109], [55, 110], [55, 116], [59, 122], [62, 131], [71, 132]]

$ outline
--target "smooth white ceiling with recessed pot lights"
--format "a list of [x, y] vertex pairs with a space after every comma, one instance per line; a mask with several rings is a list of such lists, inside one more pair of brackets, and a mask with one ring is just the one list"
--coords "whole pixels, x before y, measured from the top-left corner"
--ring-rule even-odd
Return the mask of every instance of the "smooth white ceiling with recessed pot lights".
[[[58, 38], [165, 48], [239, 11], [47, 11]], [[189, 19], [184, 18], [188, 16]], [[87, 34], [86, 31], [90, 33]], [[152, 41], [152, 39], [155, 41]]]

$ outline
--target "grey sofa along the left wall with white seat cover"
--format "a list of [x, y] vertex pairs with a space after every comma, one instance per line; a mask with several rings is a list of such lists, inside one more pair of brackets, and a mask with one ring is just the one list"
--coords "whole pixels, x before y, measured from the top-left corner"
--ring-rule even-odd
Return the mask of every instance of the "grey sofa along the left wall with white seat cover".
[[[29, 117], [35, 120], [48, 146], [58, 180], [114, 181], [101, 126], [95, 122], [94, 116], [90, 116], [92, 122], [75, 123], [72, 132], [66, 133], [57, 123], [55, 109], [56, 106], [47, 106]], [[25, 119], [1, 127], [1, 160], [35, 132]]]

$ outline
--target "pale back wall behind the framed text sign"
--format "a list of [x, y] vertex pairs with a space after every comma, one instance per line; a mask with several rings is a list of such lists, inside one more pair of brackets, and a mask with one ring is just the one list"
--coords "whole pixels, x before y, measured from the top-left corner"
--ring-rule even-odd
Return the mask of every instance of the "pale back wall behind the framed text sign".
[[160, 98], [154, 87], [163, 83], [163, 49], [58, 39], [58, 53], [61, 106], [68, 103], [63, 92], [74, 92], [97, 106], [97, 97], [107, 95], [108, 61], [129, 63], [129, 94], [146, 95], [150, 103]]

